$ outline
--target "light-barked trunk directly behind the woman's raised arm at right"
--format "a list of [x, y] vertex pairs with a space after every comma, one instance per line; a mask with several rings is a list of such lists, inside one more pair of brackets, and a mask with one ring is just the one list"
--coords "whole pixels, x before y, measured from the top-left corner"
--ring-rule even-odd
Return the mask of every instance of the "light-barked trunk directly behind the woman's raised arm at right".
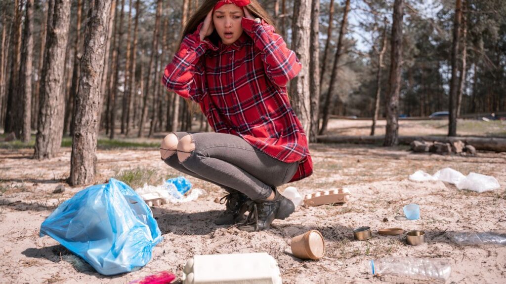
[[293, 4], [291, 49], [296, 53], [302, 64], [299, 75], [290, 82], [292, 107], [301, 121], [307, 139], [310, 137], [311, 101], [310, 83], [310, 38], [311, 38], [311, 2], [312, 0], [296, 1]]

